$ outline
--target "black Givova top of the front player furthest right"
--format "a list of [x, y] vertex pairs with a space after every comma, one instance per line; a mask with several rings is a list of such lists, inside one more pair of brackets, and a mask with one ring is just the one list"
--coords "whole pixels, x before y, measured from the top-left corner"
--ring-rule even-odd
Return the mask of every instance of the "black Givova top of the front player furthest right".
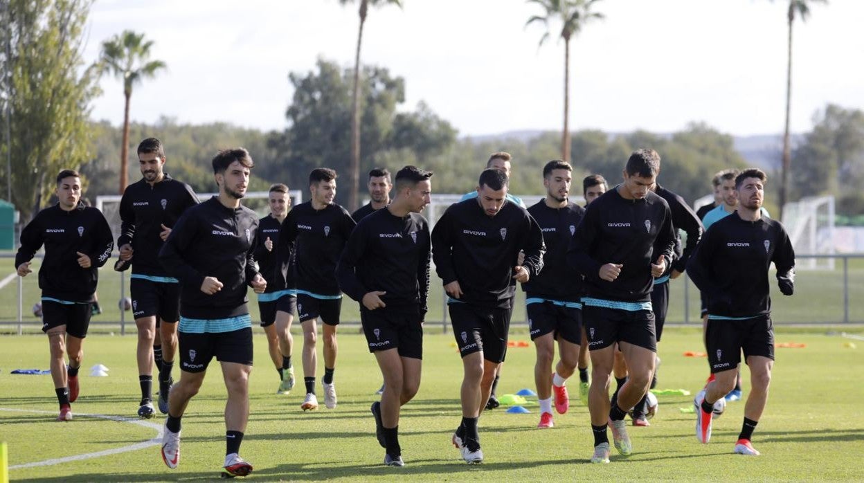
[[687, 273], [706, 297], [709, 315], [755, 317], [771, 311], [772, 262], [780, 291], [791, 296], [795, 251], [783, 225], [766, 217], [746, 221], [736, 212], [708, 228]]

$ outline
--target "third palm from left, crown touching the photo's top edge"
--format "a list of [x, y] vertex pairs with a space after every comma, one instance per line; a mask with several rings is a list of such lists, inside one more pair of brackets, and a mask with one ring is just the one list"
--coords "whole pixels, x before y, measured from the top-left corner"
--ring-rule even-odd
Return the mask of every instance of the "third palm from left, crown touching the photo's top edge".
[[604, 18], [599, 12], [592, 12], [594, 3], [600, 0], [528, 0], [528, 3], [537, 3], [543, 8], [542, 16], [531, 16], [527, 27], [531, 23], [543, 23], [546, 33], [540, 38], [540, 45], [552, 35], [550, 22], [561, 22], [560, 35], [564, 39], [564, 130], [561, 135], [561, 159], [570, 160], [570, 39], [578, 34], [582, 27], [594, 20]]

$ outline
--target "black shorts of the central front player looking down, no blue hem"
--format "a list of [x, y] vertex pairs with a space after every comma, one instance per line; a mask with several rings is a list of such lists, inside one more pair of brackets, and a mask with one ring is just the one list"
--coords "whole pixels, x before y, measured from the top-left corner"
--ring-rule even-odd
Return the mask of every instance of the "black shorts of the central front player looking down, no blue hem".
[[462, 357], [479, 351], [483, 359], [499, 364], [507, 352], [509, 308], [482, 308], [468, 303], [448, 305], [450, 324]]

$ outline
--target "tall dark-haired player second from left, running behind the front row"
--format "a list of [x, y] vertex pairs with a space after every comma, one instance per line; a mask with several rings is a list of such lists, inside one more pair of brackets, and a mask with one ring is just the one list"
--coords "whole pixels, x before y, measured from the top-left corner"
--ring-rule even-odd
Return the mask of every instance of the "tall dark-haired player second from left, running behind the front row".
[[[159, 250], [181, 214], [198, 204], [184, 182], [165, 173], [165, 149], [156, 137], [138, 144], [138, 167], [143, 178], [130, 184], [120, 199], [119, 270], [130, 264], [132, 314], [138, 329], [137, 365], [141, 402], [138, 416], [153, 417], [153, 363], [159, 360], [159, 410], [168, 412], [168, 391], [177, 352], [180, 285], [159, 264]], [[156, 331], [159, 336], [156, 337]], [[159, 343], [156, 343], [159, 341]], [[156, 355], [159, 357], [157, 358]]]

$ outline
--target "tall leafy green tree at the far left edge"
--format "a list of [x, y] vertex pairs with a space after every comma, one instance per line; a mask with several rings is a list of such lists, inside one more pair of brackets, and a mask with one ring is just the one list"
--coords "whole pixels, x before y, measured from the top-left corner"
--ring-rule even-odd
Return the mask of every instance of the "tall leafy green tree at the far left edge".
[[[29, 219], [54, 190], [62, 168], [89, 158], [90, 101], [98, 95], [98, 68], [84, 67], [91, 2], [6, 0], [0, 3], [0, 103], [7, 133], [0, 144], [4, 184]], [[85, 180], [86, 181], [86, 180]]]

